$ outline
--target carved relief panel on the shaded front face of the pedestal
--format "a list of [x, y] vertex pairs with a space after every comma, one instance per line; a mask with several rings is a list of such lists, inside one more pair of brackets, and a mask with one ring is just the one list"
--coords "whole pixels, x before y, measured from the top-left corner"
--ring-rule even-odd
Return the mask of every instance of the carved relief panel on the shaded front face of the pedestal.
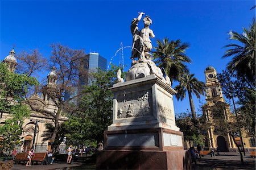
[[143, 117], [151, 115], [151, 90], [119, 94], [117, 118]]

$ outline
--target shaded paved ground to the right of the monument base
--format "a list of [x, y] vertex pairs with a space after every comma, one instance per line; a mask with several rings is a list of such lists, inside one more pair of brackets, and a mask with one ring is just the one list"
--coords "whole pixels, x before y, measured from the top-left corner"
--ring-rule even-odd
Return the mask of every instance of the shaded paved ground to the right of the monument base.
[[250, 155], [243, 156], [245, 165], [241, 165], [240, 154], [226, 153], [216, 157], [204, 155], [197, 159], [197, 165], [193, 164], [192, 169], [255, 169], [255, 158]]

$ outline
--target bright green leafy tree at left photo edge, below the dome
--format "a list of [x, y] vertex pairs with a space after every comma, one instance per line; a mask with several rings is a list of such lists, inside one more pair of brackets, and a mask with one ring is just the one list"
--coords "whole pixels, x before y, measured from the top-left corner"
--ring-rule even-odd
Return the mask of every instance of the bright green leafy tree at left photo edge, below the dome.
[[23, 132], [23, 118], [30, 116], [30, 110], [24, 104], [28, 89], [38, 85], [38, 81], [27, 75], [10, 72], [6, 64], [0, 63], [0, 113], [8, 113], [10, 119], [0, 126], [0, 150], [11, 151], [20, 144]]

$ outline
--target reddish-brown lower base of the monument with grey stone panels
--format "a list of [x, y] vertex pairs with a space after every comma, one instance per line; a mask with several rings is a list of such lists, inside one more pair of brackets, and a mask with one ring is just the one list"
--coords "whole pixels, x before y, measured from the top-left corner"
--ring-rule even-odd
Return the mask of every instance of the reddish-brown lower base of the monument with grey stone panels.
[[[96, 169], [191, 169], [183, 132], [166, 128], [105, 131]], [[181, 141], [181, 143], [180, 143]]]

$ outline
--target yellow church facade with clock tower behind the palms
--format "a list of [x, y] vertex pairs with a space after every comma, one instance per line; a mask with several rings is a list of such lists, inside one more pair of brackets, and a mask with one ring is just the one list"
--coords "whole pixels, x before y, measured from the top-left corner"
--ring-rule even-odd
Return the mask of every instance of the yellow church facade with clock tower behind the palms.
[[[215, 129], [218, 128], [216, 123], [218, 119], [223, 118], [227, 121], [232, 121], [230, 119], [233, 114], [230, 111], [230, 106], [225, 102], [222, 94], [222, 89], [218, 83], [217, 72], [212, 66], [205, 69], [205, 100], [206, 103], [203, 106], [203, 128], [205, 131], [205, 148], [215, 148], [221, 152], [233, 152], [237, 151], [236, 144], [232, 139], [230, 134], [224, 134], [221, 132], [216, 132]], [[218, 112], [220, 117], [214, 115], [214, 111]], [[243, 141], [243, 146], [249, 149], [255, 150], [255, 139], [247, 136], [246, 130], [241, 130], [242, 136], [237, 136], [235, 138], [238, 144], [241, 143], [241, 138]], [[242, 147], [241, 147], [242, 148]]]

